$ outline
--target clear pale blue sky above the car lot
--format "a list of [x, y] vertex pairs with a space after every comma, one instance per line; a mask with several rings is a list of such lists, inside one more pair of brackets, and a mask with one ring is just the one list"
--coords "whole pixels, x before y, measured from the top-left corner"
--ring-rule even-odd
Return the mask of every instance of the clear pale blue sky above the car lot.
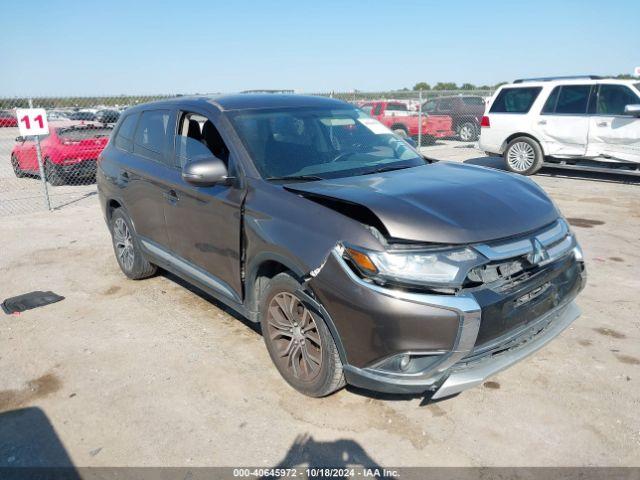
[[640, 1], [5, 1], [0, 96], [631, 73]]

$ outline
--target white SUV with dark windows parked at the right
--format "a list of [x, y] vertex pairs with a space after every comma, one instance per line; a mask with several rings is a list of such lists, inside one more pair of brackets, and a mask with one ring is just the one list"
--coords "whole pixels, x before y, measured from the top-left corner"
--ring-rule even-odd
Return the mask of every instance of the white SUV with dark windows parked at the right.
[[640, 164], [640, 83], [596, 76], [516, 80], [492, 97], [480, 149], [531, 175], [545, 157]]

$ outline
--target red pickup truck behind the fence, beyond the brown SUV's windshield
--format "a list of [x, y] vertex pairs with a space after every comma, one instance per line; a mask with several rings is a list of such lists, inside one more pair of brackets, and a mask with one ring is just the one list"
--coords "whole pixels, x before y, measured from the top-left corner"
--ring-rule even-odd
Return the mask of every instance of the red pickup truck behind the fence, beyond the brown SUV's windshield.
[[403, 102], [366, 102], [360, 105], [360, 109], [383, 123], [401, 137], [418, 139], [418, 131], [421, 128], [421, 140], [423, 145], [430, 145], [436, 138], [452, 137], [453, 122], [449, 115], [423, 115], [422, 126], [419, 127], [418, 114], [409, 111]]

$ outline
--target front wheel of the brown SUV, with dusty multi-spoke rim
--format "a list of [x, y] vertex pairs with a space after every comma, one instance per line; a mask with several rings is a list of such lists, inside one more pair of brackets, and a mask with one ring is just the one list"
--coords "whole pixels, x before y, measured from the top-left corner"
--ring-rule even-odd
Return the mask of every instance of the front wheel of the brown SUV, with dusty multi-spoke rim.
[[261, 295], [260, 324], [269, 356], [289, 385], [324, 397], [345, 385], [338, 349], [324, 320], [295, 296], [300, 284], [280, 273]]

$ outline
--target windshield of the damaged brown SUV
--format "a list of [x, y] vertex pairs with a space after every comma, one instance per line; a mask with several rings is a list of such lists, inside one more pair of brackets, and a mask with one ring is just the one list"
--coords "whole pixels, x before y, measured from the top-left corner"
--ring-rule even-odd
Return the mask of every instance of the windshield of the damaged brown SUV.
[[355, 108], [237, 112], [231, 121], [268, 180], [350, 177], [425, 164], [408, 143]]

